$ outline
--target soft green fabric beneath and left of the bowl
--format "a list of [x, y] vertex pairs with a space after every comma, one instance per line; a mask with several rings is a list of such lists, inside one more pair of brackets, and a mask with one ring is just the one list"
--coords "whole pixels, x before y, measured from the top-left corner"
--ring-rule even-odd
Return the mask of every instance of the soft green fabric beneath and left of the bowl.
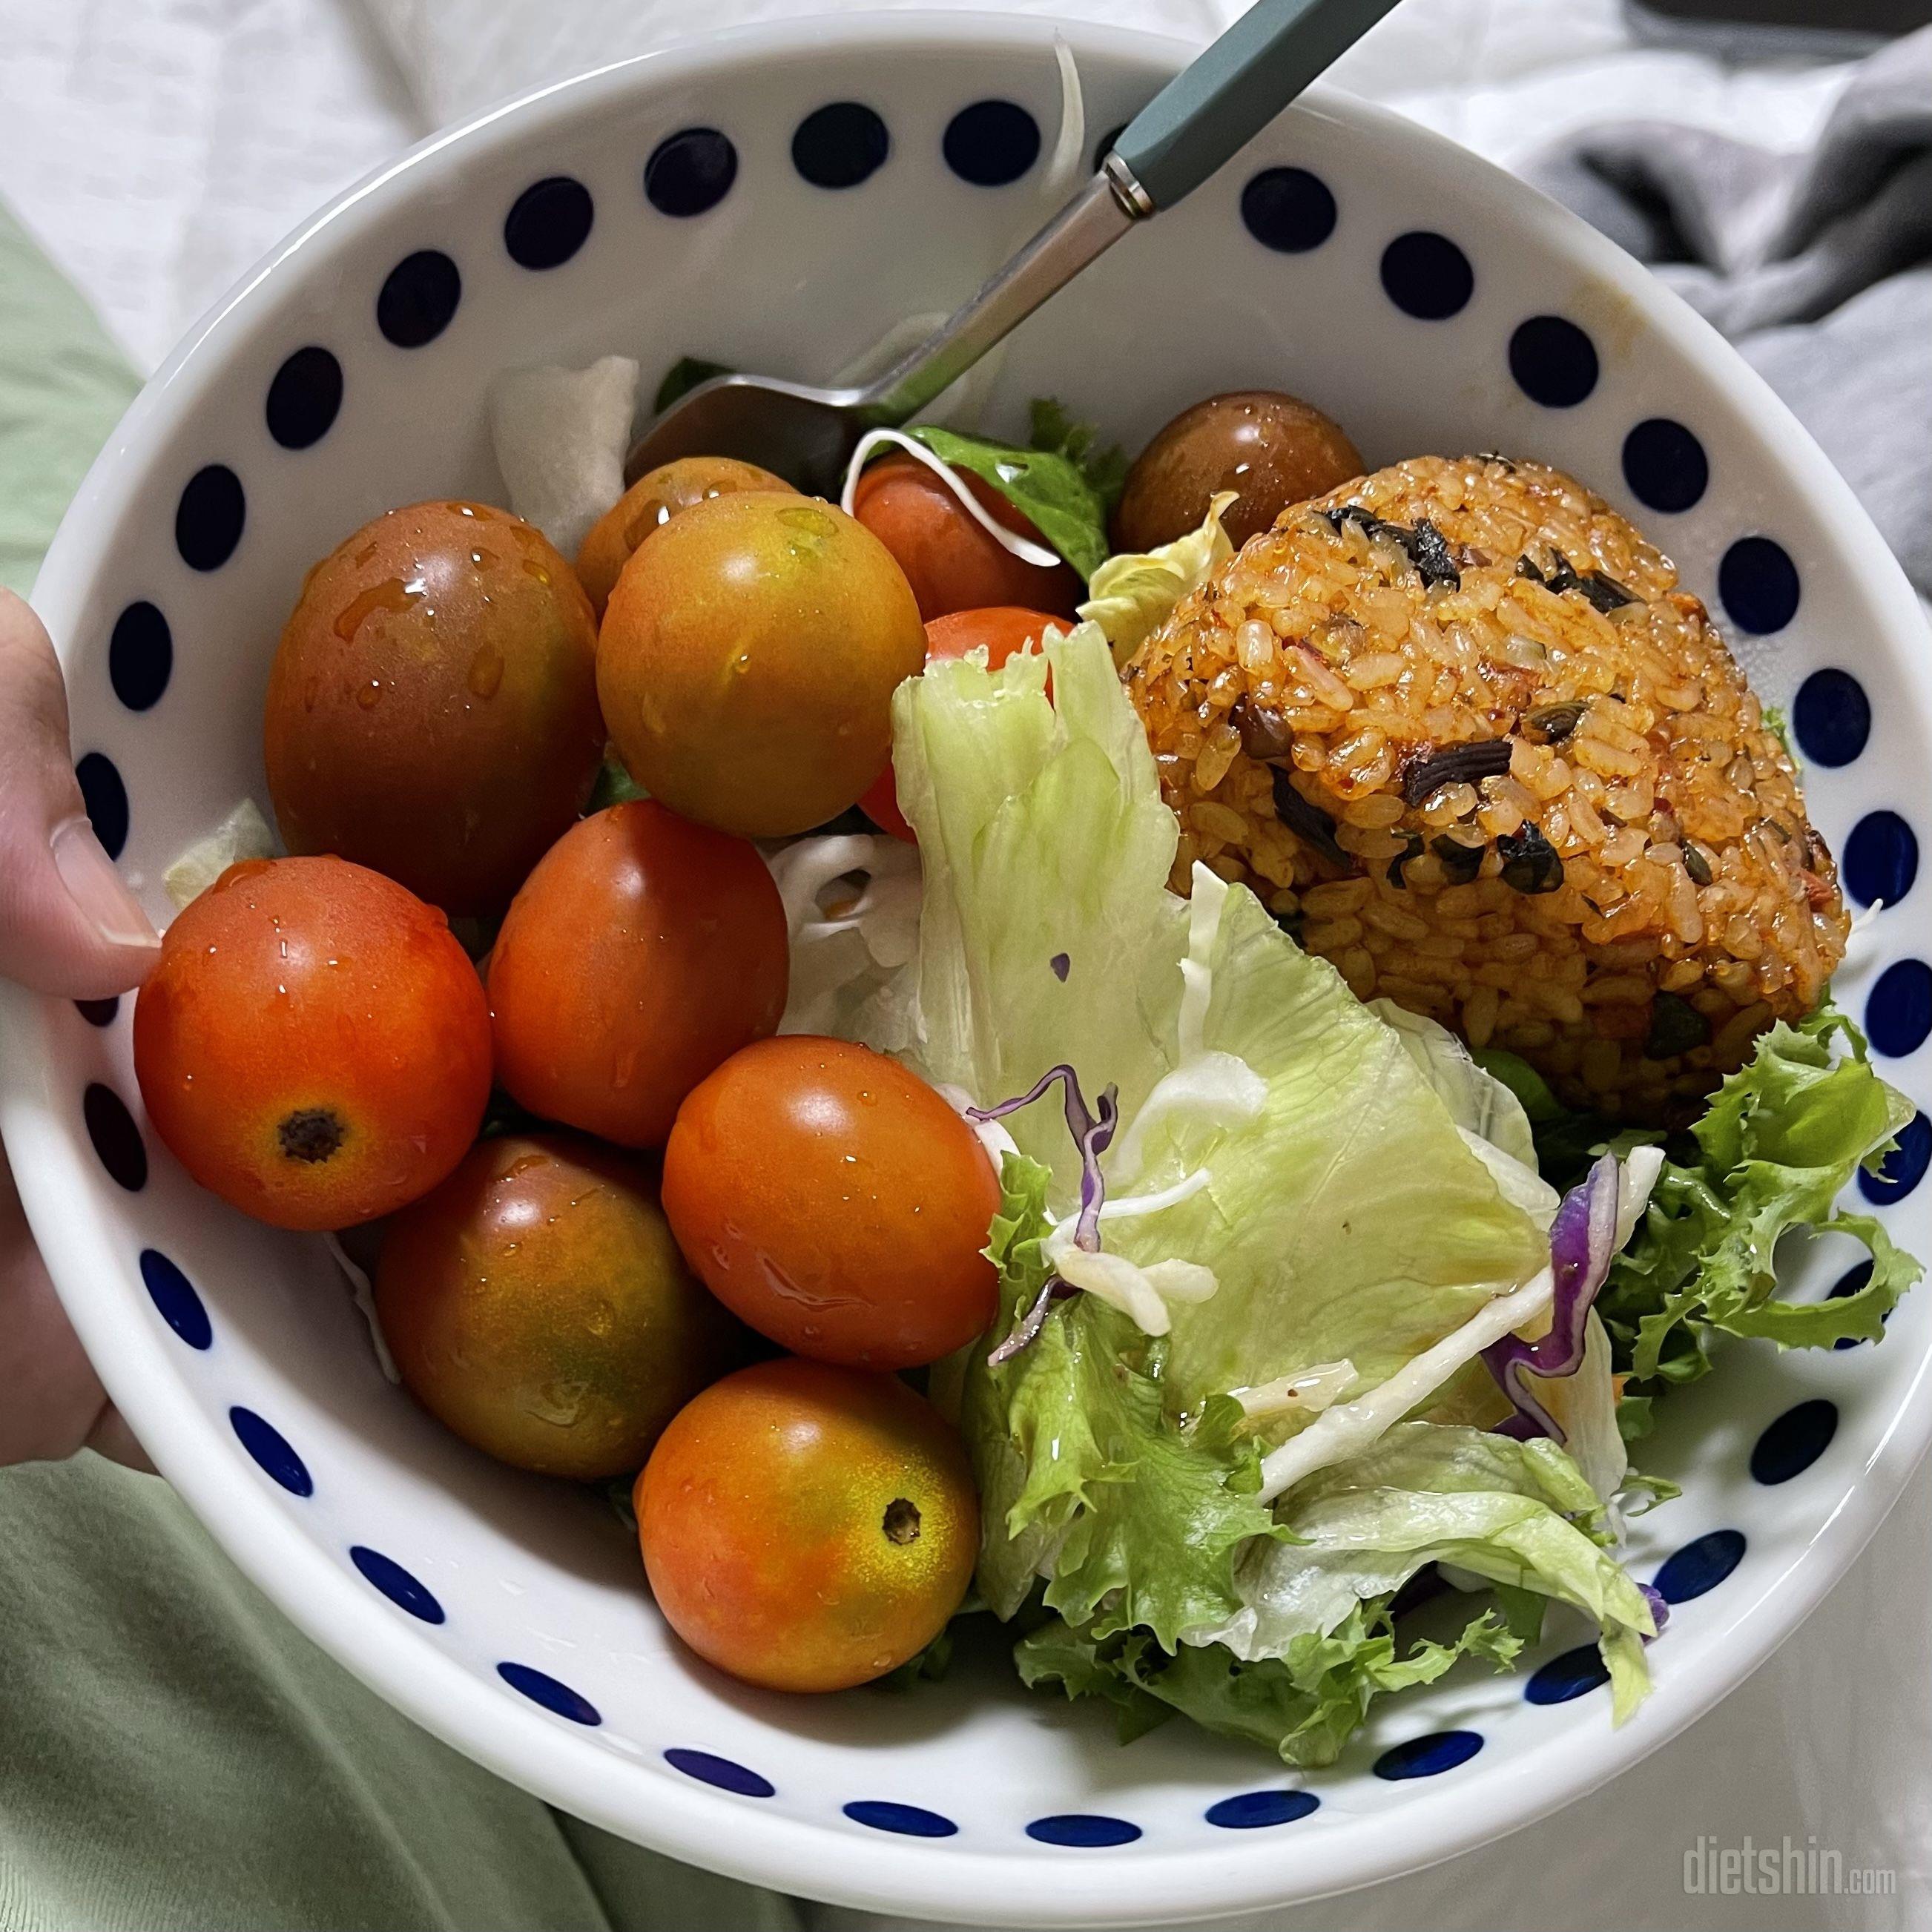
[[[0, 209], [10, 585], [137, 386]], [[0, 1932], [798, 1924], [788, 1899], [551, 1812], [439, 1745], [298, 1634], [155, 1476], [95, 1455], [0, 1470]]]

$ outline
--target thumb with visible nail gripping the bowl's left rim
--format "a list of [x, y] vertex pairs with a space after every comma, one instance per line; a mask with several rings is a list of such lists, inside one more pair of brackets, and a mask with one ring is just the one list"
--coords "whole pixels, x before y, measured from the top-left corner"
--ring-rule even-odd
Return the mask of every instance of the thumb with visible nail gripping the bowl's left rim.
[[54, 647], [0, 589], [0, 978], [106, 999], [139, 985], [158, 949], [87, 823]]

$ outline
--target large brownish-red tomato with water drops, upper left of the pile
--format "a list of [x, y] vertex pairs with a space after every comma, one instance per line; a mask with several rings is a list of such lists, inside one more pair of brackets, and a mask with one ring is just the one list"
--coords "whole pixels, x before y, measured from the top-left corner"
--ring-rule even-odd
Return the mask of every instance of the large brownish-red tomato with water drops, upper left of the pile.
[[263, 755], [292, 852], [497, 914], [603, 761], [597, 624], [543, 533], [477, 502], [365, 524], [301, 585]]

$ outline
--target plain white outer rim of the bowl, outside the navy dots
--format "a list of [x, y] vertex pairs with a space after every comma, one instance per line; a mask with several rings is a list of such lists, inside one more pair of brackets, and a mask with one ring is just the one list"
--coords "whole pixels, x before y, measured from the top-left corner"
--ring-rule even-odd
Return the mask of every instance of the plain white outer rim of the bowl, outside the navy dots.
[[[1126, 56], [1179, 68], [1194, 48], [1142, 31], [999, 14], [850, 14], [757, 23], [612, 62], [442, 129], [377, 168], [298, 226], [243, 274], [162, 363], [110, 435], [48, 549], [35, 603], [60, 638], [75, 620], [97, 568], [99, 527], [118, 518], [147, 452], [220, 379], [228, 336], [249, 327], [257, 294], [282, 265], [325, 234], [408, 201], [439, 174], [498, 141], [541, 137], [558, 118], [599, 102], [622, 106], [694, 75], [734, 71], [786, 52], [906, 54], [1045, 52], [1065, 39], [1074, 52]], [[1770, 386], [1721, 336], [1646, 269], [1578, 216], [1455, 143], [1385, 108], [1316, 87], [1304, 112], [1352, 124], [1381, 143], [1420, 149], [1447, 195], [1511, 203], [1511, 220], [1538, 232], [1613, 292], [1629, 298], [1692, 369], [1777, 440], [1818, 526], [1855, 566], [1880, 612], [1880, 634], [1899, 674], [1932, 705], [1932, 657], [1922, 651], [1918, 603], [1849, 485]], [[1903, 645], [1911, 639], [1915, 649]], [[62, 653], [66, 661], [66, 651]], [[1917, 1364], [1897, 1410], [1855, 1480], [1851, 1495], [1781, 1573], [1725, 1627], [1716, 1662], [1694, 1681], [1667, 1677], [1621, 1731], [1584, 1741], [1557, 1776], [1544, 1754], [1488, 1770], [1480, 1787], [1447, 1783], [1416, 1795], [1391, 1830], [1387, 1814], [1360, 1814], [1289, 1843], [1132, 1849], [1051, 1859], [1034, 1853], [949, 1849], [881, 1837], [858, 1849], [819, 1822], [765, 1812], [665, 1774], [643, 1806], [611, 1803], [611, 1754], [566, 1725], [524, 1708], [471, 1675], [425, 1634], [388, 1613], [334, 1563], [278, 1503], [270, 1486], [238, 1480], [242, 1451], [174, 1376], [147, 1372], [153, 1341], [120, 1318], [116, 1294], [131, 1293], [126, 1258], [100, 1223], [70, 1211], [93, 1182], [85, 1150], [56, 1101], [50, 1009], [60, 1003], [0, 985], [0, 1134], [29, 1225], [89, 1358], [108, 1395], [232, 1561], [290, 1621], [371, 1690], [423, 1729], [497, 1772], [620, 1837], [752, 1884], [873, 1911], [966, 1918], [981, 1924], [1142, 1924], [1198, 1920], [1265, 1909], [1406, 1876], [1520, 1830], [1634, 1766], [1727, 1696], [1816, 1607], [1897, 1501], [1932, 1443], [1932, 1352]], [[1480, 1793], [1480, 1795], [1478, 1795]], [[1399, 1845], [1399, 1857], [1389, 1847]], [[1099, 1864], [1095, 1864], [1099, 1861]], [[1099, 1884], [1107, 1874], [1111, 1884]]]

